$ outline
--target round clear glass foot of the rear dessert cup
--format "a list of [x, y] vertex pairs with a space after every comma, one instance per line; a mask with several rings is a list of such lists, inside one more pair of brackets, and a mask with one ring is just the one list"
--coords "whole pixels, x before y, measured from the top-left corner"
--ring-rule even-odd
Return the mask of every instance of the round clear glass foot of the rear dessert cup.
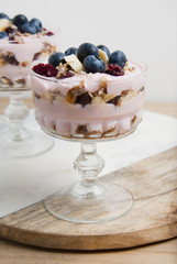
[[0, 134], [0, 157], [21, 158], [32, 157], [51, 150], [54, 141], [37, 131], [25, 131], [24, 138], [11, 138], [9, 131], [3, 130]]

